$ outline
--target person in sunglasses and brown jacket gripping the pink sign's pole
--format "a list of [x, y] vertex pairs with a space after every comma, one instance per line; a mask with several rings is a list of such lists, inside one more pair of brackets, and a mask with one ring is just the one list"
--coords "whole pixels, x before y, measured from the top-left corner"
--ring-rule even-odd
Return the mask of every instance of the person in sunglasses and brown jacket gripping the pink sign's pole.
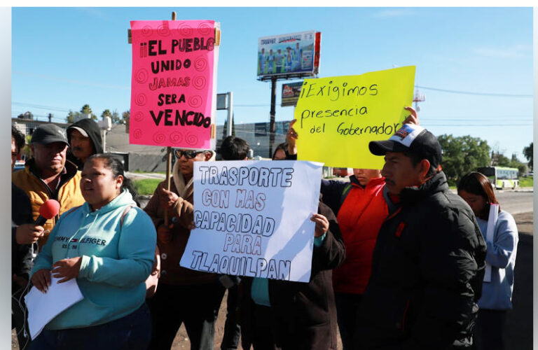
[[[214, 160], [211, 150], [175, 149], [170, 190], [159, 183], [144, 208], [157, 228], [160, 279], [149, 300], [153, 331], [149, 349], [170, 349], [181, 323], [185, 323], [193, 350], [213, 349], [214, 323], [224, 288], [216, 274], [179, 266], [193, 222], [193, 163]], [[172, 223], [165, 227], [167, 211]]]

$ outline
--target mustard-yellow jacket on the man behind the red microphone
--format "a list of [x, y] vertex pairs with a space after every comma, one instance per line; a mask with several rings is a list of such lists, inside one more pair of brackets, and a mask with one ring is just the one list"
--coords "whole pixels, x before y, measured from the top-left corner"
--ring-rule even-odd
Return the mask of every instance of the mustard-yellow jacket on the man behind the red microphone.
[[[76, 166], [69, 162], [65, 162], [65, 169], [67, 174], [62, 175], [68, 178], [67, 181], [62, 181], [62, 186], [58, 188], [57, 193], [52, 193], [50, 188], [39, 179], [39, 176], [30, 171], [30, 167], [34, 164], [33, 160], [29, 160], [24, 170], [14, 172], [11, 176], [11, 181], [18, 186], [18, 188], [25, 191], [32, 203], [32, 217], [34, 221], [39, 217], [39, 208], [47, 200], [54, 199], [60, 202], [60, 213], [47, 220], [43, 225], [45, 230], [52, 231], [56, 221], [60, 218], [64, 212], [73, 207], [78, 207], [84, 204], [85, 200], [81, 193], [81, 172], [78, 172]], [[37, 243], [39, 244], [39, 250], [45, 244], [48, 238], [48, 233], [39, 238]]]

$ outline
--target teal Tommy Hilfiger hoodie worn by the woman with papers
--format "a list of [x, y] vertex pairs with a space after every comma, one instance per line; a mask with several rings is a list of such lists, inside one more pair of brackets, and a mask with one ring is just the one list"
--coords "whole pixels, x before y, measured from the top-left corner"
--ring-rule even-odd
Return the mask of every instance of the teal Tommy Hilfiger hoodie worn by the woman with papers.
[[46, 329], [107, 323], [144, 303], [144, 281], [153, 265], [157, 235], [151, 218], [136, 205], [120, 225], [123, 212], [132, 204], [132, 195], [124, 190], [96, 211], [85, 202], [62, 214], [37, 255], [32, 275], [51, 269], [58, 260], [81, 256], [76, 281], [84, 298], [53, 318]]

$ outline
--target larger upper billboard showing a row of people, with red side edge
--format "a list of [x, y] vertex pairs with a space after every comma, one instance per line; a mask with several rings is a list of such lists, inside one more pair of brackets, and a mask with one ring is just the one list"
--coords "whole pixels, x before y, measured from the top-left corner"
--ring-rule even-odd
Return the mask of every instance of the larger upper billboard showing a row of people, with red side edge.
[[258, 78], [317, 74], [320, 41], [319, 31], [301, 31], [259, 38], [256, 68]]

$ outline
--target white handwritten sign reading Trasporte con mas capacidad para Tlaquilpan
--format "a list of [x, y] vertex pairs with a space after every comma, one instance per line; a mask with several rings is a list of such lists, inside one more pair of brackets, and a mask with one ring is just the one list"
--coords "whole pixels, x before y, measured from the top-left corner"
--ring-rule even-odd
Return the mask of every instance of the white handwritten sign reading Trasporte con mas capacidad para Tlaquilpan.
[[322, 163], [194, 162], [194, 221], [179, 265], [308, 282]]

